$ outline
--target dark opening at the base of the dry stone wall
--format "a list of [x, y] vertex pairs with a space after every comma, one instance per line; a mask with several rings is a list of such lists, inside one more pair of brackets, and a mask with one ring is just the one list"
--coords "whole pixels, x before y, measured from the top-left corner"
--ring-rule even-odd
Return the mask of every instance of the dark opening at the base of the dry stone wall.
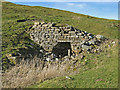
[[52, 53], [58, 58], [71, 55], [72, 52], [70, 42], [58, 42], [53, 47]]

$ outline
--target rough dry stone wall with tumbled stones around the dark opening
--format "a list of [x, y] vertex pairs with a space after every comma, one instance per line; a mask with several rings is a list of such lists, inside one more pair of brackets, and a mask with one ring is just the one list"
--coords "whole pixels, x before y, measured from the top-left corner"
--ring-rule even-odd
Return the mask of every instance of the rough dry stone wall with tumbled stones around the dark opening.
[[70, 42], [72, 53], [76, 55], [81, 50], [92, 50], [94, 45], [98, 45], [105, 39], [102, 35], [96, 36], [67, 24], [45, 22], [35, 22], [29, 33], [34, 42], [49, 52], [52, 52], [58, 42]]

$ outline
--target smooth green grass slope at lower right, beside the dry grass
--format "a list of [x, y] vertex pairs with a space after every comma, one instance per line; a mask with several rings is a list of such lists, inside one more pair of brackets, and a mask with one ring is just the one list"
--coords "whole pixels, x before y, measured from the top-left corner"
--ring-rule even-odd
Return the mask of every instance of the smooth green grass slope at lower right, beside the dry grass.
[[[108, 55], [110, 57], [108, 57]], [[89, 62], [72, 79], [57, 77], [29, 88], [117, 88], [118, 48], [111, 47], [100, 55], [89, 55]]]

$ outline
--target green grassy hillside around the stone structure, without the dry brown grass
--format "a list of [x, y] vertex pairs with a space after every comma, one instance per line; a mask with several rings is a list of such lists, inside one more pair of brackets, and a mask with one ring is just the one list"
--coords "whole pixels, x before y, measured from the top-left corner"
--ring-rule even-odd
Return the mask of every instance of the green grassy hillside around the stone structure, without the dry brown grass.
[[[9, 2], [3, 2], [2, 5], [3, 69], [14, 65], [13, 61], [6, 58], [6, 54], [21, 52], [20, 49], [25, 49], [26, 53], [32, 53], [33, 50], [37, 52], [36, 49], [39, 47], [30, 40], [26, 33], [33, 24], [32, 20], [69, 24], [83, 31], [104, 35], [117, 42], [117, 20], [95, 18], [45, 7], [16, 5]], [[24, 22], [20, 22], [20, 20]], [[30, 48], [32, 44], [34, 44], [34, 49]], [[101, 55], [88, 56], [89, 63], [81, 68], [79, 74], [71, 76], [73, 80], [59, 77], [31, 87], [117, 87], [117, 50], [116, 45]], [[97, 64], [94, 64], [93, 61]]]

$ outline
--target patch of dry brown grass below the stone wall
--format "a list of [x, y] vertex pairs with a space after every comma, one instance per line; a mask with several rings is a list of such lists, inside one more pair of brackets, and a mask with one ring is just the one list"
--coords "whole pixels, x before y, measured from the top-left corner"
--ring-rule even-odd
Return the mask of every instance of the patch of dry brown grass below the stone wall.
[[49, 63], [35, 57], [33, 60], [22, 60], [10, 70], [3, 73], [3, 88], [26, 87], [57, 76], [68, 75], [66, 68], [69, 63], [58, 61]]

